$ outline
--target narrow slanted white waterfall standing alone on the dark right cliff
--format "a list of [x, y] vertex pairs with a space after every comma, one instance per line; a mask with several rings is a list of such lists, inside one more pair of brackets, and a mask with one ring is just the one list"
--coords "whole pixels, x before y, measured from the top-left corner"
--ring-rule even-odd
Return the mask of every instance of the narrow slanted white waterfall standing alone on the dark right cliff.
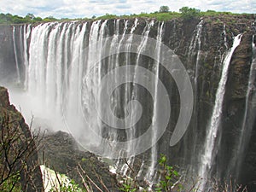
[[201, 166], [198, 172], [199, 176], [202, 177], [203, 179], [203, 182], [199, 186], [201, 191], [204, 191], [205, 189], [208, 176], [210, 175], [209, 172], [211, 172], [211, 168], [212, 168], [212, 160], [214, 160], [216, 155], [216, 150], [218, 148], [218, 146], [216, 146], [216, 139], [218, 137], [218, 128], [220, 126], [221, 117], [222, 117], [225, 84], [228, 79], [228, 71], [229, 71], [232, 55], [236, 47], [240, 44], [240, 41], [241, 41], [241, 35], [237, 35], [234, 38], [234, 43], [232, 48], [229, 50], [229, 52], [227, 53], [224, 59], [222, 74], [218, 83], [218, 90], [216, 92], [215, 104], [212, 111], [212, 117], [210, 120], [210, 124], [208, 125], [208, 128], [207, 128], [207, 136], [206, 136], [203, 152], [201, 155]]

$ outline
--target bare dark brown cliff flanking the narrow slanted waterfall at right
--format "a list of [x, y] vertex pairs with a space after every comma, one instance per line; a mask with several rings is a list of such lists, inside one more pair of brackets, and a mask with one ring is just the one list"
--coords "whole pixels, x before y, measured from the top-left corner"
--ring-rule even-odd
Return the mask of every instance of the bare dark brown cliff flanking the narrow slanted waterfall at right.
[[[238, 183], [247, 183], [248, 189], [254, 190], [253, 181], [256, 172], [252, 160], [255, 160], [255, 149], [252, 146], [256, 142], [253, 137], [255, 134], [255, 100], [253, 99], [255, 89], [252, 88], [249, 91], [249, 96], [247, 95], [248, 86], [255, 86], [255, 77], [250, 77], [255, 57], [255, 55], [253, 56], [253, 34], [255, 32], [251, 30], [251, 23], [254, 19], [224, 15], [201, 18], [201, 20], [172, 20], [165, 24], [163, 42], [175, 51], [188, 70], [193, 84], [195, 105], [189, 129], [183, 140], [174, 148], [168, 148], [169, 138], [172, 134], [167, 131], [160, 139], [159, 151], [163, 154], [169, 153], [172, 163], [181, 165], [183, 162], [183, 165], [190, 165], [193, 170], [196, 170], [196, 166], [201, 166], [200, 159], [207, 126], [209, 126], [214, 103], [218, 100], [216, 90], [221, 78], [224, 53], [232, 47], [234, 36], [240, 33], [242, 34], [241, 44], [235, 50], [230, 61], [223, 113], [221, 113], [220, 129], [218, 130], [217, 143], [219, 144], [214, 152], [216, 157], [213, 160], [211, 172], [216, 177], [225, 179], [229, 179], [230, 176], [237, 177]], [[150, 37], [155, 36], [156, 34], [152, 33]], [[175, 85], [170, 83], [173, 82], [173, 79], [170, 76], [165, 76], [164, 72], [162, 75], [161, 80], [165, 84], [171, 84], [169, 90], [172, 91], [172, 96], [178, 95], [177, 90], [173, 88]], [[249, 104], [247, 103], [248, 97]], [[170, 130], [175, 125], [179, 113], [178, 101], [175, 96], [171, 101], [174, 117], [169, 125]], [[247, 125], [245, 125], [245, 121]], [[250, 132], [249, 130], [251, 133], [244, 141], [241, 139], [241, 135], [246, 131]], [[244, 154], [237, 152], [241, 150], [242, 147], [239, 147], [241, 145], [249, 146], [247, 149], [242, 149], [245, 151]], [[239, 156], [236, 156], [238, 154]]]

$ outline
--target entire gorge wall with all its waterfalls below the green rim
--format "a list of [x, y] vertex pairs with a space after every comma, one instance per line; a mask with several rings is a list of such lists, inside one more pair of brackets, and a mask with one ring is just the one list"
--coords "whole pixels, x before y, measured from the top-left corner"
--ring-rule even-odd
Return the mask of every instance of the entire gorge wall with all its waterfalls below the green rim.
[[[153, 182], [166, 154], [184, 175], [202, 178], [201, 191], [212, 177], [253, 191], [254, 19], [2, 25], [0, 82], [26, 123], [34, 115], [38, 125], [72, 133], [84, 150], [117, 159], [120, 172], [129, 174], [118, 160], [127, 158], [138, 177]], [[163, 65], [179, 61], [184, 71]]]

